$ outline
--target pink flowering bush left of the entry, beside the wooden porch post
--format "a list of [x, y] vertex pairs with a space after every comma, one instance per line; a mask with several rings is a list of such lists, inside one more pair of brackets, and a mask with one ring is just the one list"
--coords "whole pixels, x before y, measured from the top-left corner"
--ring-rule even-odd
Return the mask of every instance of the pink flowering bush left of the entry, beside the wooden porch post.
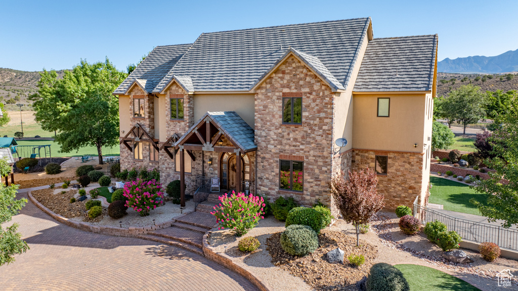
[[125, 206], [133, 208], [140, 216], [149, 215], [149, 212], [164, 203], [162, 185], [156, 180], [145, 181], [137, 179], [124, 184]]

